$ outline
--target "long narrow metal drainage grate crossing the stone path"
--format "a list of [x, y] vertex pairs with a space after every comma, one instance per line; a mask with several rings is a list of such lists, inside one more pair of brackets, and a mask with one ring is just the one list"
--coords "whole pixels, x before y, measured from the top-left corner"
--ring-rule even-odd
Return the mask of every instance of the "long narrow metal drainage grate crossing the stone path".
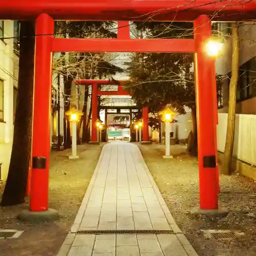
[[174, 234], [173, 229], [145, 229], [145, 230], [78, 230], [77, 234]]

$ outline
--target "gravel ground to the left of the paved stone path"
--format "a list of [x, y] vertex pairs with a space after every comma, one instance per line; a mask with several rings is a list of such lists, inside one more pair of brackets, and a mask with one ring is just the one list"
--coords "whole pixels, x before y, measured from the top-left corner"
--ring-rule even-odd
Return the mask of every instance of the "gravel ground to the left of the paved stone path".
[[[102, 146], [79, 145], [79, 159], [70, 160], [71, 150], [53, 152], [50, 160], [49, 207], [60, 220], [37, 225], [19, 222], [16, 216], [27, 205], [0, 208], [0, 229], [25, 230], [18, 239], [0, 239], [1, 256], [56, 255], [75, 219], [91, 180]], [[4, 184], [0, 184], [0, 198]]]

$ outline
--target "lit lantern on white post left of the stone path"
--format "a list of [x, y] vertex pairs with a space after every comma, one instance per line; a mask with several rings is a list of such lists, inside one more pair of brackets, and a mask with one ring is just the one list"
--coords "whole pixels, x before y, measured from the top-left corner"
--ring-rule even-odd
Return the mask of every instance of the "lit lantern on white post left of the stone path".
[[73, 107], [66, 112], [66, 115], [69, 116], [69, 120], [72, 122], [72, 155], [69, 156], [69, 159], [77, 159], [79, 156], [76, 154], [76, 123], [82, 116], [82, 112]]

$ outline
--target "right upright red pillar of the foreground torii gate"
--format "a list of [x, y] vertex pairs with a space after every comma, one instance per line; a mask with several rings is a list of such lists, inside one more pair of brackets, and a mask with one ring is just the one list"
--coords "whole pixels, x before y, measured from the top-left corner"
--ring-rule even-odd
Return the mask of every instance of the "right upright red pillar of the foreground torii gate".
[[202, 214], [222, 211], [218, 208], [216, 98], [213, 90], [215, 81], [212, 75], [215, 58], [207, 56], [204, 49], [205, 43], [210, 37], [210, 19], [207, 15], [201, 15], [194, 22], [194, 38], [196, 46], [195, 88], [198, 128], [199, 212]]

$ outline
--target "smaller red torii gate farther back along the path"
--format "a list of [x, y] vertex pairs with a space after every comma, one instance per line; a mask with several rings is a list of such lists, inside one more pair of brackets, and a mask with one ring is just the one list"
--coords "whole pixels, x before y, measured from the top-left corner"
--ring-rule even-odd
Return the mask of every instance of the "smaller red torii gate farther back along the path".
[[[103, 95], [131, 95], [132, 93], [122, 89], [122, 86], [116, 84], [113, 80], [102, 80], [102, 79], [78, 79], [75, 80], [77, 84], [92, 84], [92, 142], [97, 142], [97, 113], [98, 113], [98, 98], [97, 96]], [[118, 82], [125, 82], [125, 80], [118, 80]], [[110, 85], [115, 84], [118, 86], [117, 91], [102, 91], [99, 90], [99, 85]], [[148, 107], [142, 108], [142, 119], [143, 119], [143, 141], [147, 142], [148, 139]]]

